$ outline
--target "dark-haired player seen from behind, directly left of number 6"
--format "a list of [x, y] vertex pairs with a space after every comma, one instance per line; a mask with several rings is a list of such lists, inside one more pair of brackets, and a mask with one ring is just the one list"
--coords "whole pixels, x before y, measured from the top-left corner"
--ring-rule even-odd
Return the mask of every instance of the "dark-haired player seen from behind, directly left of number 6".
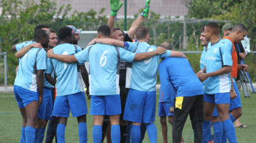
[[[56, 54], [74, 55], [81, 51], [80, 47], [72, 45], [74, 42], [74, 35], [71, 28], [67, 26], [61, 27], [58, 30], [58, 38], [60, 39], [60, 45], [53, 49]], [[51, 76], [53, 68], [57, 76], [56, 83], [54, 83], [54, 79]], [[59, 120], [57, 127], [58, 142], [65, 142], [65, 127], [67, 125], [67, 118], [69, 117], [70, 110], [73, 117], [77, 117], [77, 122], [79, 123], [80, 142], [87, 142], [87, 105], [84, 92], [82, 92], [82, 89], [79, 87], [78, 69], [80, 69], [82, 78], [86, 81], [86, 69], [84, 63], [70, 64], [48, 58], [47, 69], [45, 71], [46, 80], [53, 85], [56, 84], [57, 89], [57, 96], [53, 107], [53, 116], [58, 116]]]

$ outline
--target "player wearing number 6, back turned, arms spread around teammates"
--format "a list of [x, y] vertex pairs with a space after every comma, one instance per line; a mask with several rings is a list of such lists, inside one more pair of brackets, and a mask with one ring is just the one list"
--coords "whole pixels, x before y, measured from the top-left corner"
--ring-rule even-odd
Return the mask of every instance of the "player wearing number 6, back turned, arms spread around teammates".
[[[99, 39], [108, 40], [110, 36], [110, 28], [107, 25], [99, 26]], [[101, 142], [103, 117], [104, 115], [109, 115], [112, 125], [112, 142], [119, 143], [121, 105], [118, 81], [120, 60], [126, 62], [145, 60], [154, 55], [163, 54], [165, 50], [159, 47], [158, 50], [153, 52], [135, 54], [120, 47], [97, 43], [75, 55], [57, 55], [58, 53], [53, 54], [52, 52], [54, 51], [49, 50], [48, 57], [53, 57], [63, 62], [90, 62], [89, 79], [91, 79], [91, 86], [89, 90], [92, 95], [91, 114], [94, 115], [93, 140], [94, 142]]]

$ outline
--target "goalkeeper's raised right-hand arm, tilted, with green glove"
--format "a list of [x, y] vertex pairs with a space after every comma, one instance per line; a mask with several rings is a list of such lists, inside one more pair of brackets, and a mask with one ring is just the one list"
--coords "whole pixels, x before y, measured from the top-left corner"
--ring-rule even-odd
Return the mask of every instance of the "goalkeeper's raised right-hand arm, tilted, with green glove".
[[139, 16], [139, 18], [132, 23], [129, 31], [127, 32], [127, 35], [129, 35], [131, 39], [134, 37], [136, 28], [143, 23], [144, 19], [146, 18], [149, 12], [150, 12], [150, 0], [147, 0], [144, 6], [143, 13], [141, 13], [141, 16]]

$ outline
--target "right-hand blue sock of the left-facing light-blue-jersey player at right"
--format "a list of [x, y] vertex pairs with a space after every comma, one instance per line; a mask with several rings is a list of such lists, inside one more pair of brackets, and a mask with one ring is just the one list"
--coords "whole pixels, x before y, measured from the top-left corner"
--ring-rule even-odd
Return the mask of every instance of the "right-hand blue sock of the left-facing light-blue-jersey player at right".
[[234, 130], [234, 125], [231, 121], [231, 119], [227, 119], [224, 122], [222, 122], [222, 126], [224, 127], [224, 130], [226, 131], [227, 139], [230, 143], [237, 142], [236, 140], [236, 131]]

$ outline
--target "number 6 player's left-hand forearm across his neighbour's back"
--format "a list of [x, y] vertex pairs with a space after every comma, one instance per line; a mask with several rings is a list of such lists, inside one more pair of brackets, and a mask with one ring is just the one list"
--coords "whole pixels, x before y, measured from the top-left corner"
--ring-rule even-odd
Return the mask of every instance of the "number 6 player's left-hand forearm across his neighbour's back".
[[58, 55], [54, 54], [52, 49], [49, 49], [47, 52], [47, 57], [60, 60], [61, 62], [73, 63], [78, 62], [75, 58], [75, 55]]

